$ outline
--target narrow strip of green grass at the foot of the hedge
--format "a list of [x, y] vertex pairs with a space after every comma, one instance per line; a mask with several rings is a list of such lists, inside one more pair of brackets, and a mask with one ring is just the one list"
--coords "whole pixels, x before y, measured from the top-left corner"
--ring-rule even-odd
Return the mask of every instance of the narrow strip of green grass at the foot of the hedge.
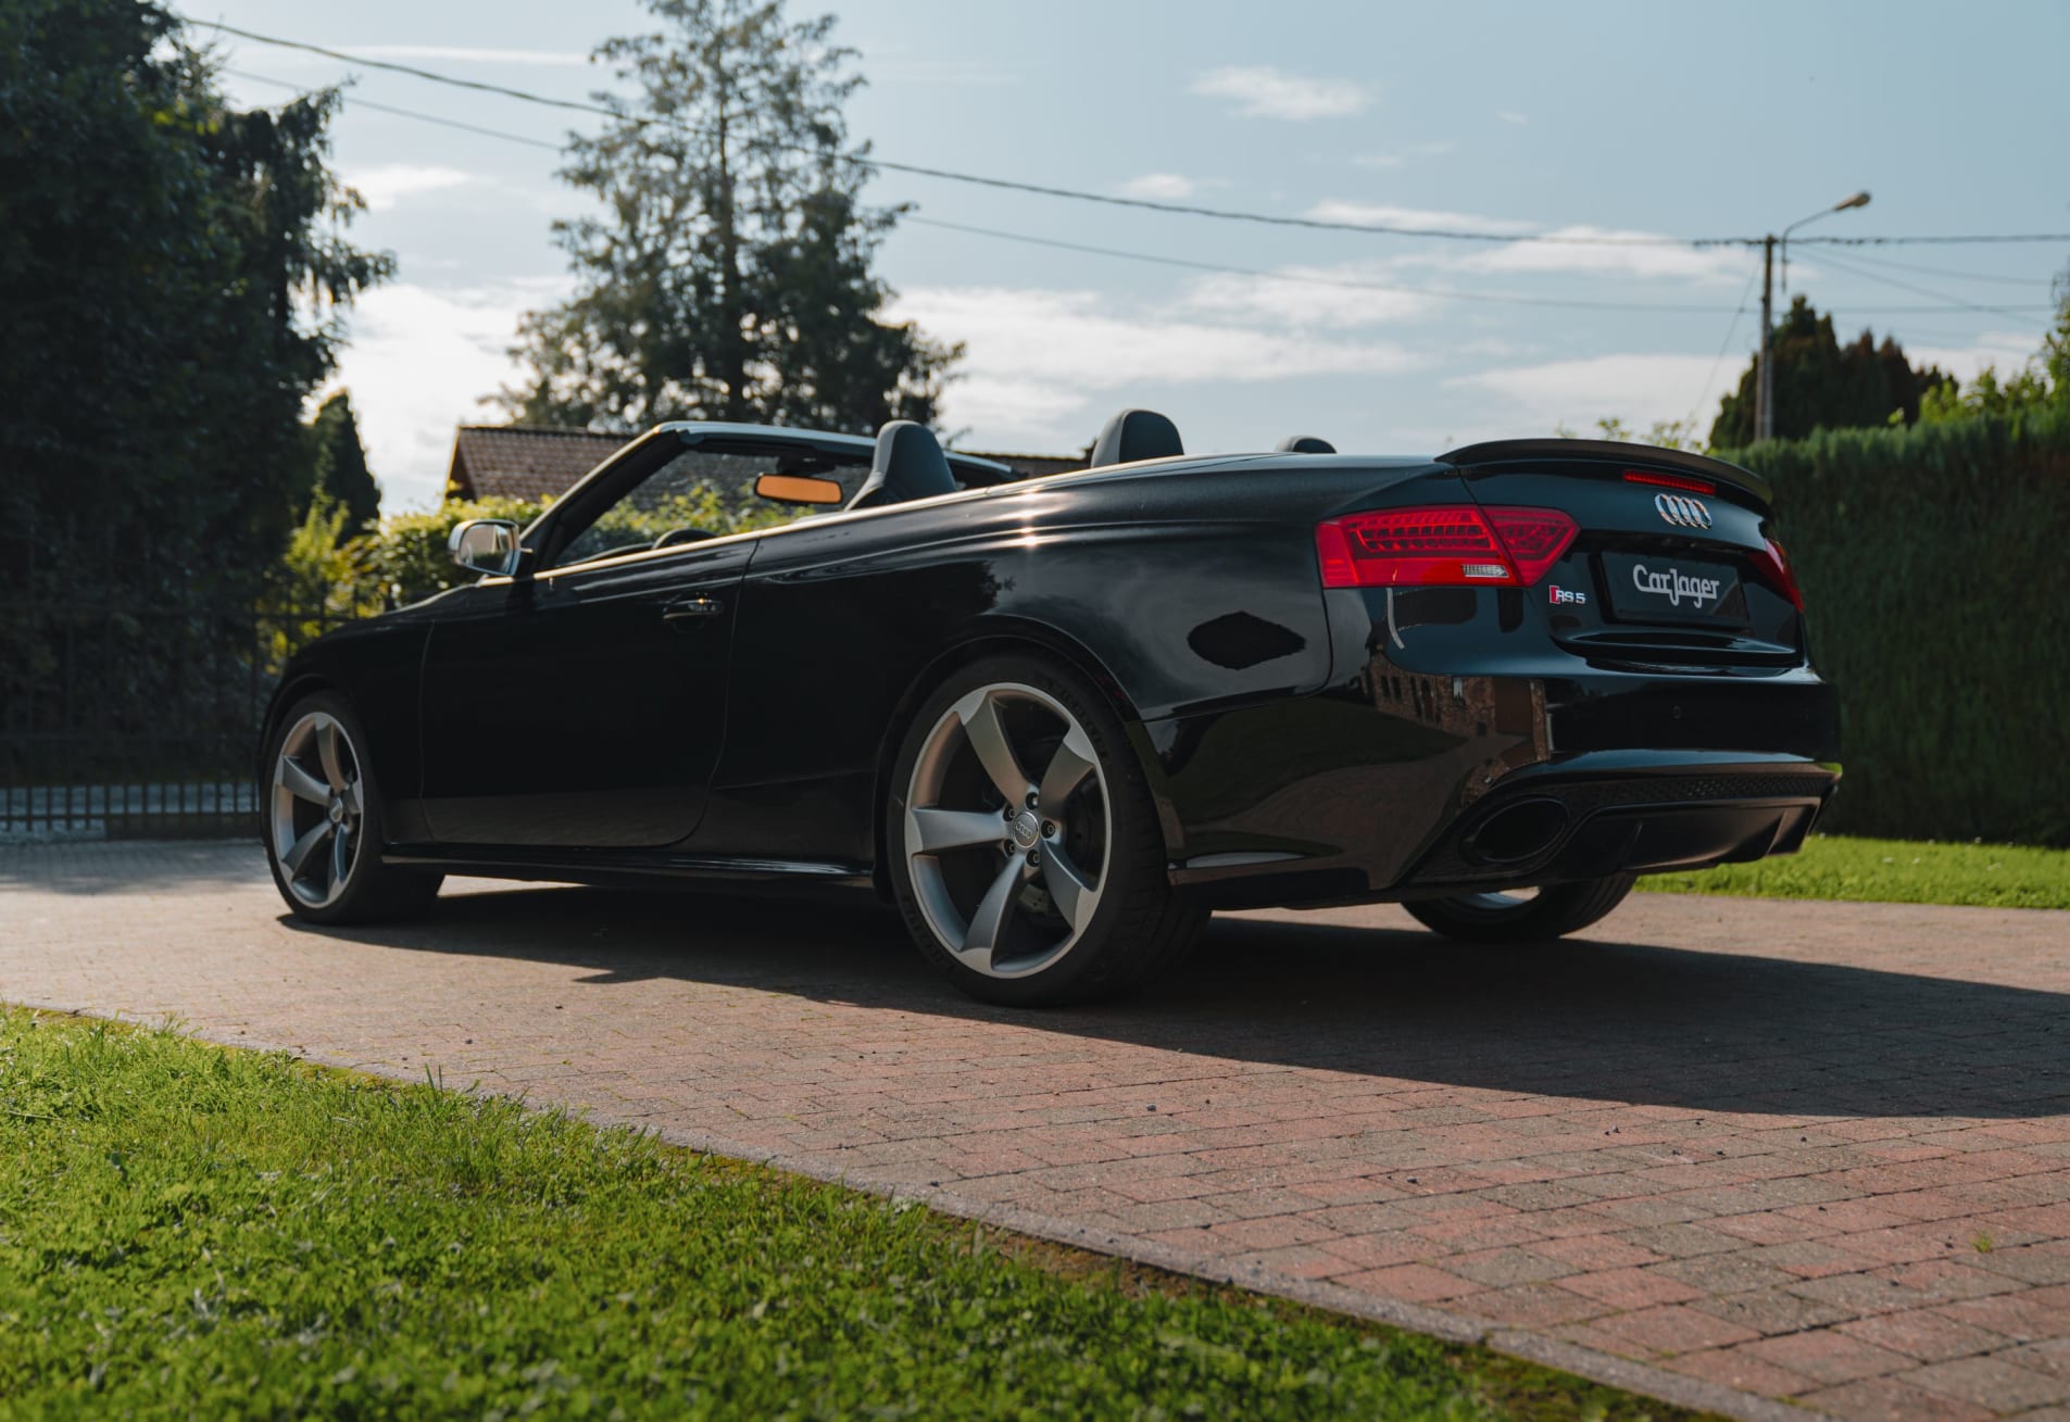
[[1652, 873], [1639, 880], [1639, 888], [1668, 894], [2070, 909], [2070, 849], [1813, 834], [1797, 855], [1726, 863], [1699, 873]]

